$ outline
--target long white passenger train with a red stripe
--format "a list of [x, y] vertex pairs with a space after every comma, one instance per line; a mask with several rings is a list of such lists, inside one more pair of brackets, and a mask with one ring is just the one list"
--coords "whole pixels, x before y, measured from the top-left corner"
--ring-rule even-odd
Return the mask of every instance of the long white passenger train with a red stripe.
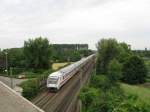
[[95, 54], [70, 64], [56, 72], [50, 74], [47, 78], [47, 88], [58, 91], [69, 79], [71, 79]]

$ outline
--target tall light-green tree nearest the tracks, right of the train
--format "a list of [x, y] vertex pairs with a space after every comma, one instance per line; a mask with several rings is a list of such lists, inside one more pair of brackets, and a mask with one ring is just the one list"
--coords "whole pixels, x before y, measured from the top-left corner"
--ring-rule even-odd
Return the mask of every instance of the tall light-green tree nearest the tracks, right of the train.
[[109, 62], [119, 55], [116, 39], [101, 39], [97, 44], [96, 73], [106, 74]]

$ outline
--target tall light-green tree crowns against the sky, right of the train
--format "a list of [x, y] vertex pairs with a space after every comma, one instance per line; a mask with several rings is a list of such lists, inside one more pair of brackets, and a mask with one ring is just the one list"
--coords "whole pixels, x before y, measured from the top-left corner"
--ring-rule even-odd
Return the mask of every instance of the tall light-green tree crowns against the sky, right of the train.
[[118, 43], [116, 39], [101, 39], [97, 44], [96, 73], [106, 74], [112, 59], [124, 63], [132, 52], [126, 43]]

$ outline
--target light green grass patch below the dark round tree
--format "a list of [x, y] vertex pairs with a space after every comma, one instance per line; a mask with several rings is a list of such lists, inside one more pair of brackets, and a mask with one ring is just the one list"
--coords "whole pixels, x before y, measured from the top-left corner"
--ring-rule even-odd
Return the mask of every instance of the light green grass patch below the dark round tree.
[[139, 102], [150, 103], [150, 89], [142, 86], [121, 84], [125, 94], [138, 96]]

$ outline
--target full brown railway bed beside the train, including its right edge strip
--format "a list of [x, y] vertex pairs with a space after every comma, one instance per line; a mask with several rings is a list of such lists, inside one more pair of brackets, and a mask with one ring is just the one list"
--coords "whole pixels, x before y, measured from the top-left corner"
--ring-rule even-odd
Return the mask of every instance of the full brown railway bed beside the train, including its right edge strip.
[[78, 95], [81, 87], [90, 79], [94, 64], [95, 57], [80, 68], [58, 92], [45, 89], [32, 103], [45, 112], [80, 112]]

